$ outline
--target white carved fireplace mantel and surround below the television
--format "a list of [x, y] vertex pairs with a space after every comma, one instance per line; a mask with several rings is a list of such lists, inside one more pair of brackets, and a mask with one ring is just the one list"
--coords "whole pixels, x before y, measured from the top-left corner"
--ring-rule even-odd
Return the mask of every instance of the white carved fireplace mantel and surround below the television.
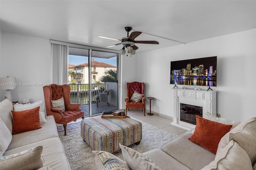
[[216, 115], [217, 91], [174, 88], [174, 116], [172, 125], [191, 130], [196, 125], [180, 121], [180, 103], [200, 106], [205, 113]]

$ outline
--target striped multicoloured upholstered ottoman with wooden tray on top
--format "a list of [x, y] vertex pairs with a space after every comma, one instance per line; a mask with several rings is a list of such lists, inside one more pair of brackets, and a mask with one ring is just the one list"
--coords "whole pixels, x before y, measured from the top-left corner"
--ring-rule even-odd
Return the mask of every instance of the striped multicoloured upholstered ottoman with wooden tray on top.
[[124, 146], [140, 144], [142, 124], [134, 119], [102, 119], [91, 117], [81, 121], [81, 137], [93, 150], [110, 153]]

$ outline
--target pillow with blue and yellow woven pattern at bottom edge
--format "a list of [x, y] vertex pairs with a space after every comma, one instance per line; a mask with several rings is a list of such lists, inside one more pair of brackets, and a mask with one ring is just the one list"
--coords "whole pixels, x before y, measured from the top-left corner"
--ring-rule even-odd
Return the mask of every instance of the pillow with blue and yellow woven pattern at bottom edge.
[[120, 158], [105, 151], [95, 151], [95, 163], [97, 170], [130, 170], [127, 164]]

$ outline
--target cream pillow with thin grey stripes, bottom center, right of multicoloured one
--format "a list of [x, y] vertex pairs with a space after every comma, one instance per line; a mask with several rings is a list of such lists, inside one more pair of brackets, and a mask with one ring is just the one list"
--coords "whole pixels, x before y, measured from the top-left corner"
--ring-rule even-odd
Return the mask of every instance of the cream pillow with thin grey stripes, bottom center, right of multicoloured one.
[[126, 164], [132, 170], [161, 170], [150, 158], [133, 150], [132, 148], [128, 148], [119, 144], [122, 149], [122, 155], [124, 156], [124, 160]]

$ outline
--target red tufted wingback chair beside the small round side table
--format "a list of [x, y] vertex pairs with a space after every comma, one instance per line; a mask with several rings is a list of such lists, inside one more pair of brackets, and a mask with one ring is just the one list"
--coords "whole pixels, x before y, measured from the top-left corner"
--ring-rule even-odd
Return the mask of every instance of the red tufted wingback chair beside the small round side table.
[[144, 94], [144, 83], [134, 81], [132, 83], [127, 83], [126, 87], [127, 87], [127, 97], [125, 98], [126, 115], [127, 115], [127, 109], [129, 110], [130, 108], [133, 108], [133, 109], [142, 109], [142, 111], [144, 109], [144, 116], [145, 116], [146, 98], [143, 96], [141, 101], [139, 102], [130, 101], [135, 90], [140, 94]]

